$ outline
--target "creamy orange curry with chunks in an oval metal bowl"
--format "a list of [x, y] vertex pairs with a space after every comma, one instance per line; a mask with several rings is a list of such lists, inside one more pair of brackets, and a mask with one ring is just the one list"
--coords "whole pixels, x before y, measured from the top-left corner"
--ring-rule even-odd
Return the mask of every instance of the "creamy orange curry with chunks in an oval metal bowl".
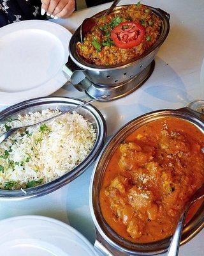
[[108, 225], [134, 243], [171, 236], [184, 204], [204, 182], [202, 147], [203, 132], [173, 117], [129, 135], [113, 153], [100, 191]]

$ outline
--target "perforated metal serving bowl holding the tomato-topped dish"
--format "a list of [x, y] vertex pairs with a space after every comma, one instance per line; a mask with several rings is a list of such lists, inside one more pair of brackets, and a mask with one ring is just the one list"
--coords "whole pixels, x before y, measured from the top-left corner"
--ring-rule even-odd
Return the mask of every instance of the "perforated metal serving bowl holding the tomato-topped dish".
[[[124, 5], [129, 6], [129, 5]], [[124, 6], [117, 6], [114, 8], [114, 12], [119, 13], [120, 9]], [[118, 65], [110, 65], [110, 66], [99, 66], [93, 65], [88, 63], [87, 61], [83, 60], [78, 55], [77, 52], [77, 42], [80, 42], [80, 27], [75, 31], [71, 40], [69, 42], [69, 56], [73, 63], [75, 63], [75, 67], [73, 68], [73, 63], [68, 61], [66, 63], [66, 67], [69, 70], [77, 71], [77, 73], [71, 75], [75, 77], [75, 75], [79, 74], [79, 71], [84, 72], [85, 76], [94, 84], [99, 84], [100, 86], [117, 86], [122, 83], [126, 83], [131, 81], [133, 77], [136, 77], [142, 70], [144, 70], [153, 60], [159, 50], [159, 47], [163, 44], [166, 36], [168, 36], [170, 30], [170, 15], [164, 12], [161, 9], [153, 8], [149, 6], [153, 13], [155, 13], [161, 19], [161, 31], [159, 38], [157, 39], [156, 43], [150, 47], [147, 51], [145, 51], [141, 56], [138, 58], [134, 58], [133, 60], [126, 61], [120, 63]], [[103, 12], [96, 13], [93, 17], [98, 17], [99, 15], [103, 15], [106, 10]], [[66, 72], [66, 68], [64, 69]], [[68, 72], [67, 72], [68, 73]], [[70, 74], [69, 74], [70, 75]], [[81, 76], [82, 77], [82, 76]], [[72, 81], [73, 80], [73, 81]], [[75, 84], [75, 79], [71, 77], [71, 83]], [[90, 86], [91, 83], [86, 86]]]

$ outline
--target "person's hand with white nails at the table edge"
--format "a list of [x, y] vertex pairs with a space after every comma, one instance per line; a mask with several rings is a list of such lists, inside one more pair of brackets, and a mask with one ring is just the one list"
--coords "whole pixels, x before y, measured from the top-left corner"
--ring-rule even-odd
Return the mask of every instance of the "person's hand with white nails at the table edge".
[[75, 0], [41, 0], [41, 15], [47, 15], [54, 19], [67, 18], [75, 10]]

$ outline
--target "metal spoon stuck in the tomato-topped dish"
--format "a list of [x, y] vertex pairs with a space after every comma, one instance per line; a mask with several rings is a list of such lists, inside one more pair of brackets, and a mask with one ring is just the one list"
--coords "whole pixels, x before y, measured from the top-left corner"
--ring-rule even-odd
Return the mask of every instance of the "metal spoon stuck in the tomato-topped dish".
[[[120, 0], [115, 0], [113, 1], [112, 5], [110, 8], [103, 14], [103, 15], [108, 15], [109, 13], [112, 12], [113, 8], [117, 6], [117, 4], [120, 2]], [[101, 15], [101, 16], [103, 16]], [[99, 16], [100, 17], [100, 16]], [[84, 36], [91, 31], [92, 27], [96, 24], [96, 20], [94, 18], [87, 18], [82, 22], [82, 25], [80, 26], [80, 38], [81, 42], [84, 42]]]

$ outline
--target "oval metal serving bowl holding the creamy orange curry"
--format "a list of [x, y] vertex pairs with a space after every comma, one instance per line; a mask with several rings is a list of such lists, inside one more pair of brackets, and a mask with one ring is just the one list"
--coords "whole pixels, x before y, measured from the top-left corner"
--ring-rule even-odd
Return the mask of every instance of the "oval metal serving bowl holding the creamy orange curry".
[[[117, 132], [117, 134], [115, 134], [113, 138], [109, 140], [105, 148], [103, 148], [103, 151], [99, 155], [98, 161], [94, 167], [94, 172], [92, 173], [90, 186], [90, 207], [92, 219], [94, 220], [94, 224], [96, 226], [95, 247], [99, 251], [105, 253], [105, 255], [156, 255], [168, 250], [170, 237], [161, 241], [156, 241], [154, 243], [131, 243], [130, 241], [120, 237], [106, 223], [105, 218], [103, 218], [99, 204], [99, 193], [101, 190], [101, 184], [103, 182], [106, 166], [108, 161], [110, 161], [113, 152], [115, 152], [119, 144], [124, 141], [124, 139], [127, 138], [129, 134], [138, 129], [138, 127], [154, 120], [158, 120], [159, 118], [173, 116], [191, 122], [204, 133], [204, 116], [203, 114], [193, 110], [194, 106], [196, 106], [196, 109], [203, 111], [204, 101], [200, 103], [202, 104], [199, 106], [202, 106], [202, 108], [200, 108], [198, 104], [190, 104], [188, 107], [182, 109], [159, 110], [147, 113], [143, 116], [139, 116], [138, 118], [124, 125], [124, 127], [122, 127], [122, 129], [120, 129], [119, 132]], [[184, 244], [192, 239], [196, 234], [198, 234], [198, 232], [200, 232], [203, 227], [204, 204], [201, 205], [193, 219], [189, 221], [189, 223], [187, 223], [187, 225], [184, 227], [180, 244]]]

